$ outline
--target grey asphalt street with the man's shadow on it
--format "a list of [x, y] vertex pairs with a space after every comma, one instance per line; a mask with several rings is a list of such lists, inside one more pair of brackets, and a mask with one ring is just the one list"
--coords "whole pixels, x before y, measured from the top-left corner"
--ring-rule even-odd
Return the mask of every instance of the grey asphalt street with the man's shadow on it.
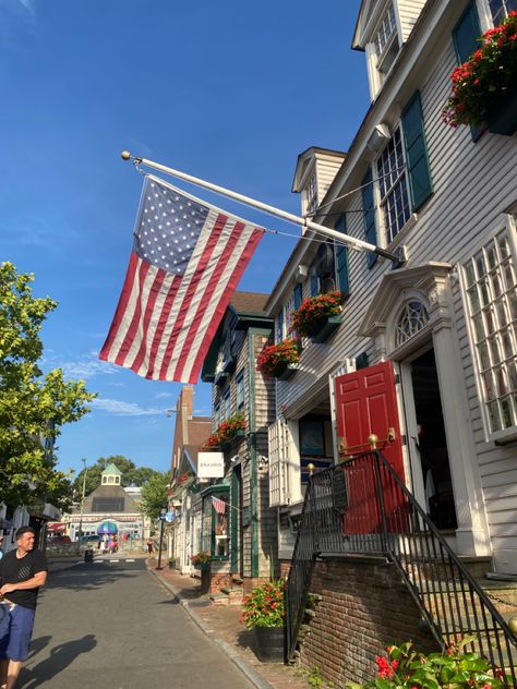
[[143, 559], [110, 559], [51, 572], [20, 689], [252, 687]]

